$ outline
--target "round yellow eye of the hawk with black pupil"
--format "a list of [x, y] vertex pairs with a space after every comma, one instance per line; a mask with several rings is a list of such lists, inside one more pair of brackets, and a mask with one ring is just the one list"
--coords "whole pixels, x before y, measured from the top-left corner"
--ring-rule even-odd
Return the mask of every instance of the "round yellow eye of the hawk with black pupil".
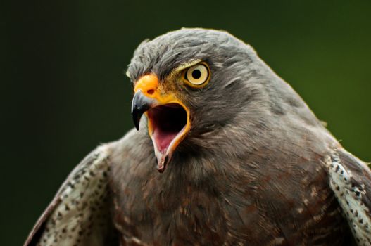
[[184, 79], [190, 86], [204, 86], [208, 82], [208, 79], [210, 79], [210, 70], [204, 63], [196, 64], [186, 70]]

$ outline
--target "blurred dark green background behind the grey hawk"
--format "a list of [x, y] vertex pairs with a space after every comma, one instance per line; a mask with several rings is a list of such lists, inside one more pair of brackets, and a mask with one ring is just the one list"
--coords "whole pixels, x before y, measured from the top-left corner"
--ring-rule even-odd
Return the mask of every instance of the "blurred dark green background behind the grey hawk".
[[0, 245], [21, 245], [68, 173], [132, 128], [124, 71], [146, 38], [231, 32], [371, 161], [371, 1], [13, 1], [1, 4]]

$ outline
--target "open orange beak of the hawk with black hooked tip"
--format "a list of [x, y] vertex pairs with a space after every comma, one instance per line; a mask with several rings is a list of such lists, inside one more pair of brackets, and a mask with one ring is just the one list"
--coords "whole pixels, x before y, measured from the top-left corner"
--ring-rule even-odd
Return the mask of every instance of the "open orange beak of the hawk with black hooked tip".
[[165, 171], [172, 153], [190, 129], [189, 109], [175, 93], [165, 93], [158, 84], [156, 75], [144, 75], [134, 87], [132, 119], [139, 130], [142, 115], [148, 118], [148, 132], [151, 136], [157, 169]]

